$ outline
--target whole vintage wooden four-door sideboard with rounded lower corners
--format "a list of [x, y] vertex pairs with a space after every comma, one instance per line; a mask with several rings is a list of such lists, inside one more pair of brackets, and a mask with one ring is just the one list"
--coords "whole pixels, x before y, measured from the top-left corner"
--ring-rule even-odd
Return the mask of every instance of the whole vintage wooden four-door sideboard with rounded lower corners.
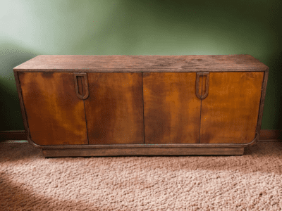
[[269, 68], [250, 55], [39, 55], [13, 68], [45, 157], [243, 155]]

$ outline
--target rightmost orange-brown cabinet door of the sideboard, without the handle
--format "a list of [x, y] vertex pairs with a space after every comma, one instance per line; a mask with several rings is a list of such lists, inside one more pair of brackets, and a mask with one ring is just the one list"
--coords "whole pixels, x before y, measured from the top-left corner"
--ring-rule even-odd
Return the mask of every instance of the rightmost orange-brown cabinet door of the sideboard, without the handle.
[[264, 72], [209, 72], [200, 143], [250, 143], [255, 139], [263, 78]]

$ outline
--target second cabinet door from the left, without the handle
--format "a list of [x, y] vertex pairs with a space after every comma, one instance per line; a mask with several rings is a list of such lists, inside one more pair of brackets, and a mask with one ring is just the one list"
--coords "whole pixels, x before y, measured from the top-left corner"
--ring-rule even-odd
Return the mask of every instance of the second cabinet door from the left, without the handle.
[[88, 72], [87, 81], [89, 143], [144, 143], [142, 73]]

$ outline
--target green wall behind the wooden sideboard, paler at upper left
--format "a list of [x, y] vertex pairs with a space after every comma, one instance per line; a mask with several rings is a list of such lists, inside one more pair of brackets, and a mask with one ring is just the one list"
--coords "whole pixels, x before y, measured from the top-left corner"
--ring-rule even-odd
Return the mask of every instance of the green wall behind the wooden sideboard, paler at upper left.
[[269, 66], [262, 129], [282, 129], [281, 2], [4, 1], [0, 131], [25, 129], [13, 68], [40, 54], [250, 54]]

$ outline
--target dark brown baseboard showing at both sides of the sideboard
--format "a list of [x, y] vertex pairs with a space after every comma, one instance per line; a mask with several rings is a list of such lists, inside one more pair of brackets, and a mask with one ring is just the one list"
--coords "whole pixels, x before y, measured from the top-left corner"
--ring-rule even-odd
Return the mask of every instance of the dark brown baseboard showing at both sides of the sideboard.
[[[281, 129], [262, 129], [260, 131], [259, 141], [280, 141], [281, 139]], [[6, 140], [27, 140], [27, 135], [25, 130], [1, 131], [0, 141]]]

